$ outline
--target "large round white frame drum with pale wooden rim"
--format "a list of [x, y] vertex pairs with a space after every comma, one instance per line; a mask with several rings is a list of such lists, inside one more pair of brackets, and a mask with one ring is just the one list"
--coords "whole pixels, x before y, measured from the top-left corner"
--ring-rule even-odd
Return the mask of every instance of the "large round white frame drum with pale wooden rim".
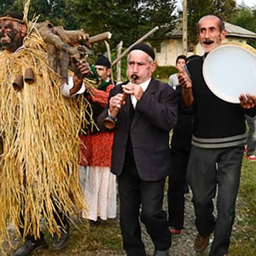
[[203, 76], [217, 97], [239, 103], [241, 93], [256, 95], [256, 50], [250, 45], [224, 44], [207, 54]]

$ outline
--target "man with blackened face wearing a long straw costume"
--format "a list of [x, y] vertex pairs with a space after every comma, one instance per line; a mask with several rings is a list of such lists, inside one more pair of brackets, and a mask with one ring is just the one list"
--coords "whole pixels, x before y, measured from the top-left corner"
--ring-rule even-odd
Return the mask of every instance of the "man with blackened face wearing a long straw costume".
[[[0, 42], [0, 246], [3, 251], [9, 224], [26, 241], [13, 256], [47, 248], [43, 216], [52, 249], [60, 250], [68, 240], [68, 216], [84, 207], [77, 165], [81, 115], [77, 102], [61, 95], [44, 40], [28, 31], [22, 15], [1, 15]], [[78, 70], [86, 76], [90, 67], [84, 60]], [[80, 80], [74, 75], [75, 83]]]

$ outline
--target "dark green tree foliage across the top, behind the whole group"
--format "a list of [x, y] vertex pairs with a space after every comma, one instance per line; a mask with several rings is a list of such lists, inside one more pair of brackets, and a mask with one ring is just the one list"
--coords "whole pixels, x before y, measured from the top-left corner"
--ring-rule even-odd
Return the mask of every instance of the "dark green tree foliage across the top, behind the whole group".
[[[0, 0], [0, 13], [22, 12], [25, 0]], [[155, 26], [159, 30], [147, 38], [152, 45], [163, 41], [172, 31], [177, 0], [31, 0], [29, 19], [40, 15], [39, 21], [50, 20], [65, 29], [83, 28], [90, 36], [106, 31], [112, 33], [111, 49], [122, 40], [124, 49]], [[188, 0], [188, 38], [196, 44], [196, 23], [207, 14], [220, 15], [225, 21], [256, 31], [256, 10], [236, 7], [235, 0]], [[95, 53], [106, 51], [104, 42], [93, 45]]]

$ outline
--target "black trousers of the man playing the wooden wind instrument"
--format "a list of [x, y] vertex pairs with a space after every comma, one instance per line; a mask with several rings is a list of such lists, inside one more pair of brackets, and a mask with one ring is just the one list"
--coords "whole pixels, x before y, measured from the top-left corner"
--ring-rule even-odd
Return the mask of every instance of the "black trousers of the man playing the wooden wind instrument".
[[164, 179], [150, 182], [141, 180], [136, 168], [130, 166], [118, 177], [118, 192], [120, 227], [127, 255], [146, 255], [139, 218], [145, 224], [155, 248], [168, 249], [172, 241], [166, 212], [162, 210]]

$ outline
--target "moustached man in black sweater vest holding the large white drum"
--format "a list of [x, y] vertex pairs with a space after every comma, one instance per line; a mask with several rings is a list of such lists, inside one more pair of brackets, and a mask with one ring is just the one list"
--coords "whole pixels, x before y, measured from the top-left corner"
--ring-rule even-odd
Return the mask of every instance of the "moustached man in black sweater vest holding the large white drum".
[[[192, 148], [188, 163], [188, 182], [198, 235], [194, 249], [203, 252], [214, 232], [209, 255], [226, 256], [235, 218], [246, 127], [244, 114], [256, 115], [256, 96], [240, 95], [240, 104], [216, 97], [207, 87], [202, 65], [207, 54], [225, 38], [223, 20], [207, 15], [198, 22], [198, 41], [205, 54], [179, 70], [179, 84], [187, 106], [193, 104]], [[216, 63], [218, 65], [218, 63]], [[213, 215], [212, 199], [217, 196], [218, 215]]]

